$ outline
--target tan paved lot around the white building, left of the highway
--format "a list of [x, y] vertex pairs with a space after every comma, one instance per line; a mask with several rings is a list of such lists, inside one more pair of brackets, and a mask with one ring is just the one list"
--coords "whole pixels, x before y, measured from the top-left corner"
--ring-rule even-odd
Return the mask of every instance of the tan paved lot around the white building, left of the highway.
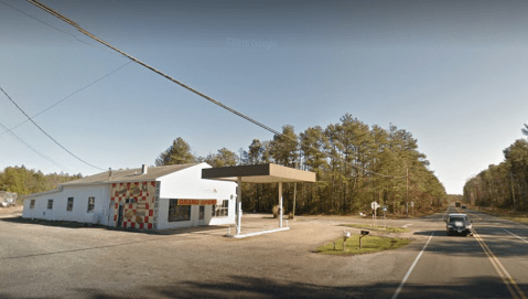
[[[360, 222], [299, 216], [290, 231], [234, 239], [227, 226], [146, 234], [0, 218], [0, 298], [390, 297], [424, 236], [403, 234], [417, 242], [370, 255], [312, 252], [342, 236], [338, 224]], [[260, 225], [278, 220], [244, 215], [243, 231]]]

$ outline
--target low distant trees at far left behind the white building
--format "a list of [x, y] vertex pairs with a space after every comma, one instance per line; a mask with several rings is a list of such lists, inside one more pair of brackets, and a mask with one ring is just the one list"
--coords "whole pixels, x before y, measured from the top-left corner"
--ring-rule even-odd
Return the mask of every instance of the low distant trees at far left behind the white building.
[[0, 190], [15, 192], [19, 195], [39, 193], [55, 189], [60, 183], [83, 178], [78, 174], [50, 173], [21, 167], [7, 167], [0, 172]]

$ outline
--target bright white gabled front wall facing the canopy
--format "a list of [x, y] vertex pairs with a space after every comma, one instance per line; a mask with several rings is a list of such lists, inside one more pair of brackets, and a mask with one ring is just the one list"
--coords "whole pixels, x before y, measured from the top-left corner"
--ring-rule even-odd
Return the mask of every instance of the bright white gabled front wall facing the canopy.
[[[235, 224], [235, 182], [223, 182], [215, 180], [202, 180], [202, 169], [211, 168], [206, 163], [201, 163], [192, 168], [181, 170], [175, 173], [161, 177], [158, 181], [160, 185], [160, 205], [158, 207], [158, 228], [174, 228], [195, 225], [219, 225]], [[230, 196], [234, 195], [231, 200]], [[200, 206], [192, 205], [191, 221], [169, 222], [169, 200], [229, 200], [228, 217], [212, 217], [212, 206], [205, 206], [205, 220], [198, 221]]]

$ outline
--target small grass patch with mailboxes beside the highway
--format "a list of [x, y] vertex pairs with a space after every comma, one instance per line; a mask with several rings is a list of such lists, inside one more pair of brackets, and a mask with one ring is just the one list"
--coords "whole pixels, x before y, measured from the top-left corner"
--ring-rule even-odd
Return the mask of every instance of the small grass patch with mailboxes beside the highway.
[[343, 252], [343, 238], [338, 238], [334, 243], [331, 242], [330, 244], [319, 247], [316, 253], [324, 255], [358, 255], [376, 253], [405, 247], [409, 245], [411, 241], [407, 238], [366, 236], [362, 238], [362, 249], [359, 249], [359, 236], [354, 235], [346, 239], [346, 252]]

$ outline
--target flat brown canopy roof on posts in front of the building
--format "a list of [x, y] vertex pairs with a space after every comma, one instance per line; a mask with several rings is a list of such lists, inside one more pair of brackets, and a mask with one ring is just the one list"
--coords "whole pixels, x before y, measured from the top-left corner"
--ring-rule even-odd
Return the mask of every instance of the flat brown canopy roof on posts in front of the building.
[[237, 181], [245, 183], [315, 182], [315, 172], [282, 167], [273, 163], [208, 168], [202, 170], [202, 179]]

